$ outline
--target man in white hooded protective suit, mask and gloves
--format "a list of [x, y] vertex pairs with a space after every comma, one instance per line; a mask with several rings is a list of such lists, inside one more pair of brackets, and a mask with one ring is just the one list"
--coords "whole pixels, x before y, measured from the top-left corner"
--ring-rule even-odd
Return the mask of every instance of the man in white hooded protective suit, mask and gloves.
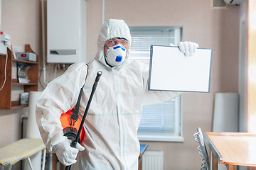
[[[142, 106], [168, 101], [180, 92], [148, 91], [149, 67], [127, 64], [132, 38], [123, 20], [105, 21], [97, 40], [97, 54], [89, 64], [78, 62], [51, 81], [37, 101], [36, 119], [43, 142], [71, 169], [138, 169], [137, 130]], [[191, 56], [198, 44], [179, 42]], [[75, 107], [85, 84], [79, 116], [85, 112], [98, 71], [102, 72], [84, 123], [86, 137], [76, 148], [63, 136], [60, 115]]]

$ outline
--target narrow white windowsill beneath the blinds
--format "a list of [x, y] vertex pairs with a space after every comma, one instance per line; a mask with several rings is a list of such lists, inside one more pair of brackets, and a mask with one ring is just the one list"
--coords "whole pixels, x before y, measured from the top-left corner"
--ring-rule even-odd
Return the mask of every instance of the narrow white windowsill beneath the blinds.
[[184, 142], [182, 136], [166, 136], [166, 135], [137, 135], [139, 141], [159, 141], [159, 142]]

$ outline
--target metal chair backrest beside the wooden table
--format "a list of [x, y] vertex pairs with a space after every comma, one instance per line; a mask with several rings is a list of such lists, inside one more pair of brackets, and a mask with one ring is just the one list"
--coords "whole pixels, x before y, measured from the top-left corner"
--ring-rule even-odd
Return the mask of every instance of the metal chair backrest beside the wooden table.
[[206, 145], [203, 141], [203, 133], [201, 128], [197, 128], [197, 131], [193, 136], [195, 137], [196, 142], [199, 143], [198, 150], [199, 154], [203, 157], [202, 164], [201, 164], [201, 170], [210, 170], [210, 163], [209, 163], [209, 157], [206, 150]]

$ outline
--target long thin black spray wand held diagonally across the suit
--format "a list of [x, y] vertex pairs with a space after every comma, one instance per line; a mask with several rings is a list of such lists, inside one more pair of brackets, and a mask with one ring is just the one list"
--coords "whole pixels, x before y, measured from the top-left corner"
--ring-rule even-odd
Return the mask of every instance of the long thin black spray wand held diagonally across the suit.
[[[91, 92], [91, 94], [90, 94], [89, 101], [88, 101], [87, 106], [86, 106], [86, 108], [85, 108], [85, 113], [84, 113], [84, 115], [82, 116], [82, 121], [81, 121], [79, 130], [78, 130], [78, 134], [76, 135], [75, 140], [71, 142], [71, 144], [70, 144], [71, 147], [76, 147], [76, 145], [77, 145], [77, 143], [78, 143], [79, 136], [80, 136], [80, 133], [81, 133], [81, 131], [82, 131], [82, 126], [83, 126], [83, 124], [85, 123], [85, 118], [86, 118], [87, 112], [88, 112], [88, 110], [89, 110], [89, 108], [90, 108], [90, 103], [91, 103], [91, 101], [92, 101], [92, 96], [93, 96], [93, 94], [95, 93], [95, 90], [96, 90], [96, 88], [97, 88], [97, 83], [99, 82], [101, 75], [102, 75], [102, 72], [101, 72], [101, 71], [97, 72], [97, 77], [96, 77], [96, 79], [95, 79], [95, 83], [94, 83], [93, 86], [92, 86], [92, 92]], [[70, 168], [71, 168], [71, 165], [66, 166], [66, 167], [65, 167], [65, 170], [70, 170]]]

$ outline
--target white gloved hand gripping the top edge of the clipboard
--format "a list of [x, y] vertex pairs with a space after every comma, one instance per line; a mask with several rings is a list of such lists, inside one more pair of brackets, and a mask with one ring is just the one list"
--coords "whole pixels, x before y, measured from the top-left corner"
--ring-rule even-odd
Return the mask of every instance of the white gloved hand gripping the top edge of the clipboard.
[[192, 56], [195, 54], [196, 49], [199, 45], [196, 42], [178, 42], [178, 49], [185, 55], [185, 56]]

